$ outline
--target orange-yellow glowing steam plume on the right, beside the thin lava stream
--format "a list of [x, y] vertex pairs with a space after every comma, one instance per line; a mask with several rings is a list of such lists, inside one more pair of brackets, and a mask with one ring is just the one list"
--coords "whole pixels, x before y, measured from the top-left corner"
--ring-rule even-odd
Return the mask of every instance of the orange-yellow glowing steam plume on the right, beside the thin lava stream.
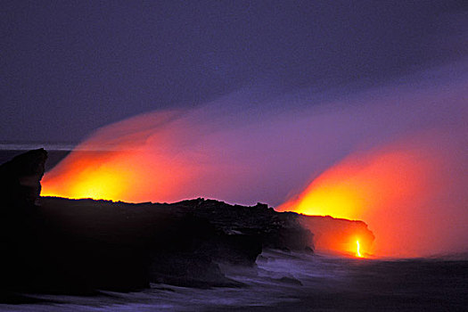
[[352, 247], [335, 248], [356, 250], [359, 258], [365, 253], [415, 257], [428, 248], [421, 236], [432, 236], [423, 203], [437, 167], [438, 161], [415, 142], [359, 152], [324, 171], [279, 210], [364, 220], [376, 237], [372, 250], [352, 237]]

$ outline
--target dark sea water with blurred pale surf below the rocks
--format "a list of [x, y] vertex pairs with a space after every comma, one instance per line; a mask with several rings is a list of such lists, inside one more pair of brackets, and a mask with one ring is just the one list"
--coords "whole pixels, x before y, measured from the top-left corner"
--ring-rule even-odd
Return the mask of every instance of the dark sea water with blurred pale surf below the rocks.
[[226, 267], [240, 288], [152, 284], [94, 297], [28, 294], [44, 300], [3, 311], [466, 311], [468, 261], [343, 259], [270, 250], [257, 269]]

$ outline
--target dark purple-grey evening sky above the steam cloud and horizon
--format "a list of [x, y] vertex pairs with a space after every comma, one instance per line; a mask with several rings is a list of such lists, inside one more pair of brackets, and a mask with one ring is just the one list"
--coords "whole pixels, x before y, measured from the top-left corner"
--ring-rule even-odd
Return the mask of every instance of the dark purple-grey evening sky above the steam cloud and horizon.
[[78, 142], [119, 119], [246, 88], [363, 89], [467, 55], [464, 1], [0, 7], [3, 142]]

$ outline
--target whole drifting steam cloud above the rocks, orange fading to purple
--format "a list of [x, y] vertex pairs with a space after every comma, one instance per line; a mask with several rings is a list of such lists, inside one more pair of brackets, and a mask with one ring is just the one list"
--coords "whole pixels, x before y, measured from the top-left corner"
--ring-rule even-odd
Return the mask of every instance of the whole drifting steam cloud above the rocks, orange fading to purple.
[[46, 173], [42, 195], [205, 197], [294, 210], [308, 185], [334, 175], [359, 205], [339, 215], [329, 207], [301, 212], [364, 220], [377, 256], [461, 252], [468, 248], [467, 65], [359, 92], [303, 89], [272, 98], [250, 89], [135, 116], [79, 144]]

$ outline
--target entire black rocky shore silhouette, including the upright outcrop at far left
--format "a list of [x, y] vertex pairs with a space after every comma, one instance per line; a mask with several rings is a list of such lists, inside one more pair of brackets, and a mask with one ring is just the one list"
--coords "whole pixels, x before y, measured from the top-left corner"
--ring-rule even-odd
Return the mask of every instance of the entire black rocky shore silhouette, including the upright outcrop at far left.
[[222, 267], [255, 267], [266, 248], [313, 249], [303, 217], [261, 203], [37, 198], [45, 159], [41, 149], [0, 167], [3, 293], [134, 291], [150, 282], [242, 286]]

